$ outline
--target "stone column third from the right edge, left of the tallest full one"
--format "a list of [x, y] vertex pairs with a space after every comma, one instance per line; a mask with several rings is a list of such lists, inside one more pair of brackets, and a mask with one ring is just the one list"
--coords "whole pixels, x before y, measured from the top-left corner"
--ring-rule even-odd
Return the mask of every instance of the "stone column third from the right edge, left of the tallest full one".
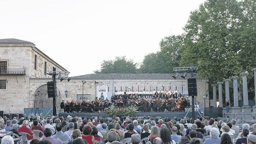
[[237, 83], [237, 76], [231, 77], [233, 79], [233, 89], [234, 89], [234, 103], [232, 112], [233, 113], [241, 113], [241, 108], [238, 106], [238, 83]]

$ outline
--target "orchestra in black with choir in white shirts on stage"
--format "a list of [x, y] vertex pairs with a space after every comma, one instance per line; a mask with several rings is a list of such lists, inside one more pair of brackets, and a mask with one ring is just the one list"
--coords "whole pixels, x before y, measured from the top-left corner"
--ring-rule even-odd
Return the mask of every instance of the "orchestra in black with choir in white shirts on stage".
[[94, 101], [89, 101], [86, 99], [68, 100], [64, 103], [64, 100], [61, 102], [61, 109], [67, 113], [73, 112], [82, 112], [82, 113], [92, 113], [92, 112], [104, 112], [110, 106], [122, 108], [129, 106], [138, 107], [138, 111], [185, 111], [185, 108], [189, 104], [189, 99], [184, 98], [181, 93], [177, 93], [177, 90], [171, 91], [167, 90], [128, 90], [126, 92], [123, 90], [115, 91], [115, 94], [111, 97], [110, 101], [106, 98], [97, 99]]

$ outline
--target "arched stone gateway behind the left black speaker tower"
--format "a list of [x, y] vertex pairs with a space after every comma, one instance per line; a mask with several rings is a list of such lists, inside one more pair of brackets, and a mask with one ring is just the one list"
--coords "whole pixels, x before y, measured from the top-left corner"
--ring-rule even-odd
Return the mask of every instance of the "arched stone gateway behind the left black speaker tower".
[[[40, 90], [40, 94], [37, 94], [37, 91]], [[60, 97], [60, 91], [57, 88], [58, 97], [56, 97], [56, 105], [60, 105], [61, 103], [61, 97]], [[44, 84], [42, 86], [39, 86], [35, 90], [35, 102], [34, 102], [34, 108], [52, 108], [53, 107], [53, 98], [48, 98], [47, 94], [47, 84]], [[59, 106], [56, 106], [57, 109]]]

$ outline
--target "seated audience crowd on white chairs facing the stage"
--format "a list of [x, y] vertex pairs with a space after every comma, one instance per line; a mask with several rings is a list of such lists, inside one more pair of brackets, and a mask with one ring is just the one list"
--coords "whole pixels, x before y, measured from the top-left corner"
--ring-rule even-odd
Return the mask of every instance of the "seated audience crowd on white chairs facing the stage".
[[[216, 118], [206, 120], [161, 117], [112, 117], [101, 116], [67, 118], [48, 116], [36, 118], [0, 117], [1, 131], [26, 132], [30, 144], [122, 144], [129, 139], [132, 144], [256, 144], [256, 124], [240, 128], [236, 120], [223, 122]], [[33, 130], [40, 130], [39, 137]], [[2, 144], [13, 144], [12, 136], [4, 136]]]

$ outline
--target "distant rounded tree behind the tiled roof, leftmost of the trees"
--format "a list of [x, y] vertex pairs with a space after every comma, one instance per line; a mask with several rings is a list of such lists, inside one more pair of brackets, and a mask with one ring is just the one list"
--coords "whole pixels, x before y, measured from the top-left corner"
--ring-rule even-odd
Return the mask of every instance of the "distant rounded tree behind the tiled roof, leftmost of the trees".
[[127, 60], [125, 56], [116, 57], [115, 60], [103, 61], [100, 70], [94, 71], [98, 74], [108, 73], [136, 73], [137, 63], [132, 60]]

